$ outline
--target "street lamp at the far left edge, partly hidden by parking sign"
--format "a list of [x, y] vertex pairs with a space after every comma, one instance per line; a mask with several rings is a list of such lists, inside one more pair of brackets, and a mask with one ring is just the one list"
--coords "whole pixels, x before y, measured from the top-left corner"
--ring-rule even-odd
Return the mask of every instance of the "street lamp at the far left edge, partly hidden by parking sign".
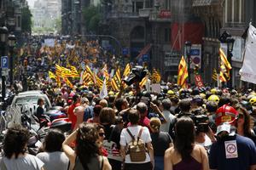
[[[5, 46], [6, 46], [6, 39], [7, 39], [8, 29], [6, 26], [0, 27], [0, 47], [2, 50], [1, 56], [5, 55]], [[2, 77], [2, 101], [4, 101], [5, 98], [5, 77], [2, 75], [2, 67], [0, 69], [1, 71], [1, 77]]]

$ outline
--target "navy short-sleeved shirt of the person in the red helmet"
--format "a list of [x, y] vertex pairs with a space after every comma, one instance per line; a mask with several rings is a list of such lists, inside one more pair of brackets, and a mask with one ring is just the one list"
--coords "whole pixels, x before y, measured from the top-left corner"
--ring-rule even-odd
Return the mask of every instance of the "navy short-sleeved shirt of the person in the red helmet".
[[[226, 158], [225, 141], [236, 140], [237, 158]], [[251, 139], [235, 135], [227, 139], [219, 140], [212, 144], [209, 156], [211, 169], [225, 170], [247, 170], [250, 166], [256, 165], [256, 148]]]

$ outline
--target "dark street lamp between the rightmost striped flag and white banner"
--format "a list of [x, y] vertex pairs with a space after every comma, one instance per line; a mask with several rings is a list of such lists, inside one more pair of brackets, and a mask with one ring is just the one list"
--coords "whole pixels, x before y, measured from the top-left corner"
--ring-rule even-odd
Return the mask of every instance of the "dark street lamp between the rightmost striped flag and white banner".
[[[227, 32], [227, 31], [224, 31], [222, 33], [222, 35], [218, 38], [218, 40], [222, 43], [226, 43], [227, 44], [227, 58], [228, 58], [228, 61], [231, 65], [231, 62], [232, 62], [232, 51], [233, 51], [233, 47], [234, 47], [234, 42], [235, 42], [235, 39], [231, 37], [230, 33]], [[232, 65], [231, 65], [232, 66]], [[228, 87], [229, 88], [232, 88], [233, 85], [233, 78], [232, 78], [232, 69], [230, 70], [230, 81], [228, 82]]]

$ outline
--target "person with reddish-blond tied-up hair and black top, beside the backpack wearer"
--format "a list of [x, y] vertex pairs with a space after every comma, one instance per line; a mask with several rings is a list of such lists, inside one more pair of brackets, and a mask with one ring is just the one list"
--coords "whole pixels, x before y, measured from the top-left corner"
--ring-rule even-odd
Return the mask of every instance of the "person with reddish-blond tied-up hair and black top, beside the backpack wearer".
[[150, 119], [150, 136], [154, 148], [154, 170], [164, 169], [165, 151], [172, 146], [172, 138], [169, 133], [160, 132], [161, 122], [158, 117]]

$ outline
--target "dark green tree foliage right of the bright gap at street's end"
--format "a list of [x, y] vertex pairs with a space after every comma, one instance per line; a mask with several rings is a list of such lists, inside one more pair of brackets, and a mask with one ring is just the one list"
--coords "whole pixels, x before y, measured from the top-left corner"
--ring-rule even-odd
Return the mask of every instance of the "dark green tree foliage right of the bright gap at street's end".
[[85, 26], [88, 31], [98, 33], [102, 14], [100, 7], [90, 6], [83, 9]]

